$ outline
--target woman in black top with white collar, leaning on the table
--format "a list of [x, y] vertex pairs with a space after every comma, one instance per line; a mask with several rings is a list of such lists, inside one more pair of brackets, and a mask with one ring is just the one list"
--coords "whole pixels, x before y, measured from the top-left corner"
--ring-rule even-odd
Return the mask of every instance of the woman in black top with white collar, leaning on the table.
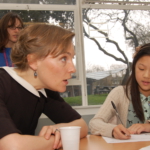
[[[58, 149], [63, 126], [81, 126], [80, 137], [87, 135], [85, 121], [58, 93], [65, 92], [76, 71], [73, 37], [68, 30], [46, 24], [21, 31], [11, 52], [15, 67], [0, 68], [0, 149]], [[56, 124], [34, 136], [41, 113]]]

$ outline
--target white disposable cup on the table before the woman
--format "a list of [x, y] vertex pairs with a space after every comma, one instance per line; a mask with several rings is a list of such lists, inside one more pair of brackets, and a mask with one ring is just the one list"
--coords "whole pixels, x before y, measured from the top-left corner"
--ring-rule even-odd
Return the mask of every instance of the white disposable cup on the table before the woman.
[[63, 150], [79, 150], [80, 128], [79, 126], [59, 128]]

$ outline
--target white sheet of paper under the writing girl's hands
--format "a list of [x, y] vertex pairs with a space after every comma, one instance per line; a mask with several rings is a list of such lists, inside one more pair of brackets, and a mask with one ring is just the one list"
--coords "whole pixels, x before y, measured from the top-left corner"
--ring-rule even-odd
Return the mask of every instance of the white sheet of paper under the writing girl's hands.
[[126, 142], [139, 142], [139, 141], [150, 141], [150, 134], [132, 134], [131, 138], [128, 140], [119, 140], [119, 139], [114, 139], [114, 138], [108, 138], [104, 137], [103, 139], [107, 143], [126, 143]]

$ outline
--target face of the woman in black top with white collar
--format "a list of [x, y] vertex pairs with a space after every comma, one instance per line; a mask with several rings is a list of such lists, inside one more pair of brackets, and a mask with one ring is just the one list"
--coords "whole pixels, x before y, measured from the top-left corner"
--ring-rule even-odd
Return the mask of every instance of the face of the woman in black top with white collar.
[[48, 55], [45, 59], [37, 61], [37, 74], [40, 86], [53, 91], [64, 92], [76, 71], [72, 59], [74, 58], [74, 46], [71, 43], [67, 51], [56, 58]]

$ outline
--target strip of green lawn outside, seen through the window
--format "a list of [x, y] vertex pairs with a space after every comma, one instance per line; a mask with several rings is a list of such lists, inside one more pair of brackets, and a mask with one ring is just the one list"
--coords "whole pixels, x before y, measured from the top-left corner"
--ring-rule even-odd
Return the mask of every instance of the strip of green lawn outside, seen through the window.
[[[88, 95], [88, 105], [100, 105], [103, 104], [108, 94], [100, 95]], [[82, 99], [81, 96], [76, 97], [65, 97], [64, 100], [71, 106], [81, 106]]]

